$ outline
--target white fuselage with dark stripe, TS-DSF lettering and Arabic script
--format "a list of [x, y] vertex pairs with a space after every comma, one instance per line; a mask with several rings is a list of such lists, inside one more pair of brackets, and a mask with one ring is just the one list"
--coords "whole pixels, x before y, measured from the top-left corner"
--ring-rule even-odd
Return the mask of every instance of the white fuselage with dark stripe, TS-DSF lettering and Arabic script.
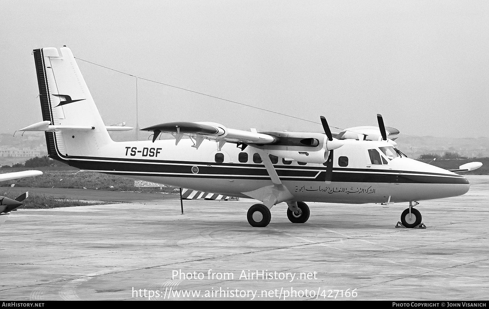
[[[463, 176], [393, 154], [382, 141], [344, 140], [334, 151], [333, 178], [324, 181], [322, 164], [272, 157], [283, 184], [297, 201], [383, 203], [441, 199], [465, 194]], [[199, 149], [190, 139], [113, 142], [96, 156], [66, 156], [83, 170], [146, 180], [175, 187], [246, 197], [243, 192], [270, 185], [270, 176], [253, 147], [243, 151], [204, 140]]]

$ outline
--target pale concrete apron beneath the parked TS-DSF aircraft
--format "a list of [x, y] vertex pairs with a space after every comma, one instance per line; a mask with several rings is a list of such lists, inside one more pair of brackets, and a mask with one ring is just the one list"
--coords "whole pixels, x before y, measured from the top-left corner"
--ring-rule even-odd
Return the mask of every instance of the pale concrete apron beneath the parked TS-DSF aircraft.
[[21, 209], [0, 226], [0, 299], [487, 300], [489, 176], [467, 178], [416, 207], [426, 229], [395, 228], [407, 203], [308, 203], [305, 224], [278, 204], [265, 228], [246, 199]]

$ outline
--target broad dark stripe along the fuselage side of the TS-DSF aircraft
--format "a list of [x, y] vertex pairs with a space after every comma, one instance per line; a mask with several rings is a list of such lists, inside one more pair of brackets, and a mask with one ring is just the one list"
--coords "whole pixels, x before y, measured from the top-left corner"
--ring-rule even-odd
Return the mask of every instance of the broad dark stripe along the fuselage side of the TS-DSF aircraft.
[[[117, 161], [116, 161], [117, 160]], [[122, 161], [122, 162], [121, 162]], [[186, 162], [186, 161], [157, 161], [146, 162], [144, 160], [128, 162], [124, 159], [111, 160], [69, 160], [71, 166], [82, 170], [99, 171], [102, 173], [119, 175], [119, 176], [146, 176], [146, 177], [187, 177], [187, 178], [209, 178], [209, 179], [268, 179], [267, 170], [263, 165], [252, 164], [234, 164], [213, 162]], [[192, 173], [192, 166], [199, 167], [199, 173]], [[282, 166], [275, 165], [279, 177], [283, 181], [324, 181], [323, 173], [326, 173], [326, 167], [309, 167], [305, 169], [302, 166]], [[407, 175], [407, 174], [415, 175]], [[366, 182], [366, 183], [451, 183], [451, 184], [468, 184], [465, 177], [459, 175], [444, 175], [421, 172], [396, 173], [387, 170], [365, 170], [365, 169], [333, 169], [334, 182]]]

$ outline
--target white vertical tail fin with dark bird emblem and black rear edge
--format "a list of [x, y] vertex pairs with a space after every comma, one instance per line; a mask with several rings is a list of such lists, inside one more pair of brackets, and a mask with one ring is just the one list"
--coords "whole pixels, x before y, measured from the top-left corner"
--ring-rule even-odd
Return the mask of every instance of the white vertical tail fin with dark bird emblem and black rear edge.
[[95, 155], [112, 140], [71, 50], [64, 46], [60, 51], [61, 55], [56, 48], [46, 47], [34, 49], [33, 54], [43, 120], [68, 128], [45, 132], [47, 152], [64, 161], [70, 156]]

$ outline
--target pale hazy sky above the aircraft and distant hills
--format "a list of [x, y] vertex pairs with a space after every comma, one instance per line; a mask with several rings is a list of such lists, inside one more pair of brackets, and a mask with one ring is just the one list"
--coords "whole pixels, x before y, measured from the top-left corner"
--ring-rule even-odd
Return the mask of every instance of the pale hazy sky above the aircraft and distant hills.
[[[407, 135], [489, 136], [489, 1], [0, 0], [0, 33], [0, 132], [42, 121], [31, 52], [66, 44], [77, 58], [318, 122], [138, 80], [140, 127], [319, 132], [320, 115], [348, 128], [381, 113]], [[105, 123], [135, 127], [136, 79], [78, 65]]]

